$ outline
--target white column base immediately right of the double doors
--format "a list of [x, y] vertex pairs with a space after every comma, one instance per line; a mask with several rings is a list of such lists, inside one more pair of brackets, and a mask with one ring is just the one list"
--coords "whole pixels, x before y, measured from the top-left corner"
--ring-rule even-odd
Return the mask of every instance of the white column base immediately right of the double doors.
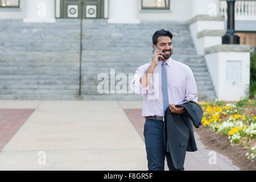
[[140, 23], [137, 0], [109, 0], [109, 23]]

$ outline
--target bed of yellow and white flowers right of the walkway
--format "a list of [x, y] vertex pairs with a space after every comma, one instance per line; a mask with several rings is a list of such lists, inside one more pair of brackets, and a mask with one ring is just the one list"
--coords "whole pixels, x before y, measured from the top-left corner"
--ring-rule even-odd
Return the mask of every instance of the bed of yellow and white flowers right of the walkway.
[[246, 156], [256, 162], [256, 102], [243, 98], [238, 102], [198, 102], [204, 110], [203, 126], [210, 127], [220, 135], [228, 135], [230, 144], [242, 144]]

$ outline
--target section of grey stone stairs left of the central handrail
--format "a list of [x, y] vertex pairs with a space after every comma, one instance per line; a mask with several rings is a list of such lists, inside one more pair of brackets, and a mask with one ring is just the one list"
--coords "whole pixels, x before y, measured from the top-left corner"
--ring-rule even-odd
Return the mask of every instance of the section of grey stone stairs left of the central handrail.
[[78, 20], [0, 20], [0, 99], [76, 100]]

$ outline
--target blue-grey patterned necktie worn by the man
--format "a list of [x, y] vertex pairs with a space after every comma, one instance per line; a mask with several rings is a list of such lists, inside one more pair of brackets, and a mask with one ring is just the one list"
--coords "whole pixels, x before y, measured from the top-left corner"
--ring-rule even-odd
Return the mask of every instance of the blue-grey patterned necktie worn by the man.
[[169, 106], [166, 61], [162, 63], [162, 90], [163, 90], [163, 110]]

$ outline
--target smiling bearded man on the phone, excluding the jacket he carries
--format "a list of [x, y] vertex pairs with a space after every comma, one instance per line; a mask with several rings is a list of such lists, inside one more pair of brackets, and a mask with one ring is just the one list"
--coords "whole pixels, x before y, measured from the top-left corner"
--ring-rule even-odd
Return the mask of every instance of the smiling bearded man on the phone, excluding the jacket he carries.
[[[197, 95], [196, 81], [188, 65], [171, 58], [172, 34], [170, 31], [159, 30], [152, 36], [152, 48], [156, 49], [150, 63], [139, 67], [131, 82], [131, 89], [138, 96], [144, 96], [142, 116], [144, 124], [144, 139], [147, 152], [148, 170], [164, 171], [166, 154], [169, 170], [184, 171], [184, 167], [176, 169], [172, 163], [170, 148], [164, 148], [164, 122], [166, 109], [172, 113], [181, 114], [184, 107], [175, 107], [184, 100]], [[160, 59], [159, 59], [160, 57]], [[193, 101], [197, 102], [197, 98]], [[166, 151], [166, 152], [165, 152]]]

